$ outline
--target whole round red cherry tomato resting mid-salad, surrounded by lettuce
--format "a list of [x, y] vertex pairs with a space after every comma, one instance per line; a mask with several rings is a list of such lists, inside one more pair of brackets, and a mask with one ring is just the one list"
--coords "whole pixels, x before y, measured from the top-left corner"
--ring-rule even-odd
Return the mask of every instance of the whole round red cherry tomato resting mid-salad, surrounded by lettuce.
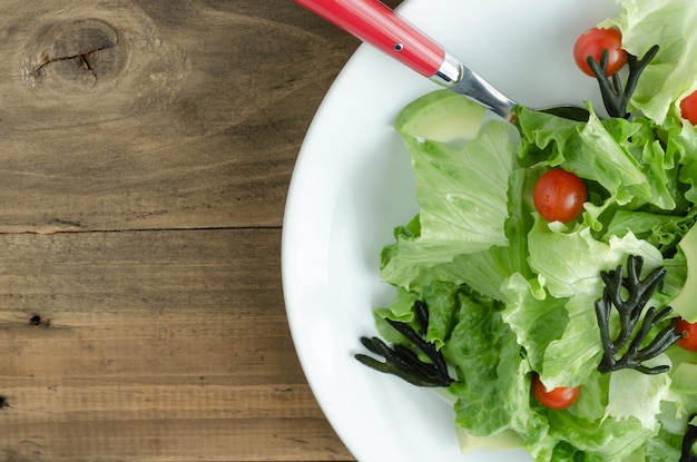
[[586, 186], [572, 173], [554, 168], [538, 179], [532, 190], [532, 201], [548, 222], [569, 223], [583, 212]]

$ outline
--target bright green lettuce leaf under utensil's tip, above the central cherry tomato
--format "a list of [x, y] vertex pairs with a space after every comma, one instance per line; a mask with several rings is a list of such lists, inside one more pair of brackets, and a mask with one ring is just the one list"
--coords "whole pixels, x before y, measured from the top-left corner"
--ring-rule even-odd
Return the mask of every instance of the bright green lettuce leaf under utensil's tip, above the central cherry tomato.
[[[561, 167], [597, 181], [613, 203], [628, 209], [652, 205], [661, 210], [686, 206], [675, 167], [678, 140], [668, 153], [657, 140], [655, 122], [646, 117], [600, 119], [590, 108], [588, 124], [522, 109], [518, 157], [522, 165]], [[681, 150], [687, 153], [686, 149]], [[694, 155], [694, 154], [693, 154]]]

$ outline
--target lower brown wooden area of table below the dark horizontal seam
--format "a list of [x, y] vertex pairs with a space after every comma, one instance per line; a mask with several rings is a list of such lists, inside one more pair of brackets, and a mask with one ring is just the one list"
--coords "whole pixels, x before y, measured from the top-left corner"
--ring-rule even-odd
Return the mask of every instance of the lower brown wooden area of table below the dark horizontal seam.
[[0, 454], [351, 460], [295, 356], [278, 243], [278, 229], [0, 235]]

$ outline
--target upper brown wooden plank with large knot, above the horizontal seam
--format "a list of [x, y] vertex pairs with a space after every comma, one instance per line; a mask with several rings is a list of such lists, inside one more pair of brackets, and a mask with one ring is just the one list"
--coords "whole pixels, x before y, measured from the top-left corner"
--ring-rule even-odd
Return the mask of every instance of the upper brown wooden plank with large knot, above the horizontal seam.
[[[2, 2], [0, 232], [279, 226], [357, 42], [286, 0], [229, 3]], [[95, 28], [118, 40], [60, 58]]]

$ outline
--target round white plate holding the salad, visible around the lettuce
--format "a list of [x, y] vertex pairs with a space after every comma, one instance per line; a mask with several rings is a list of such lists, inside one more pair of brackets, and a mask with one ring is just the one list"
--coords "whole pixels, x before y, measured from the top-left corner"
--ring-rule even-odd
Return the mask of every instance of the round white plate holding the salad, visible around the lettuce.
[[[572, 47], [617, 8], [611, 0], [408, 0], [399, 11], [519, 102], [590, 99], [601, 107]], [[364, 352], [359, 337], [376, 334], [372, 309], [393, 293], [379, 277], [380, 250], [418, 210], [409, 155], [392, 122], [434, 89], [364, 45], [320, 107], [283, 228], [293, 340], [322, 410], [359, 461], [529, 461], [521, 450], [462, 455], [450, 405], [353, 358]]]

